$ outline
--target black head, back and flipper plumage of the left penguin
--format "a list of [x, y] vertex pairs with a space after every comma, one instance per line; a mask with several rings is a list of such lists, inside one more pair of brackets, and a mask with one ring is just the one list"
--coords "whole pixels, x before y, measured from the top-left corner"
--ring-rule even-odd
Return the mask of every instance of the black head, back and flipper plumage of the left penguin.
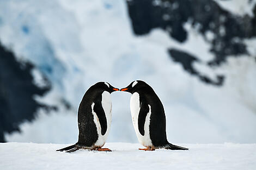
[[93, 110], [99, 118], [101, 125], [101, 134], [104, 135], [106, 133], [107, 118], [101, 105], [101, 99], [104, 91], [112, 93], [114, 91], [113, 88], [111, 85], [108, 87], [104, 82], [99, 82], [91, 86], [84, 94], [78, 109], [79, 136], [77, 144], [90, 147], [98, 139], [97, 128], [92, 114], [93, 103], [95, 103]]

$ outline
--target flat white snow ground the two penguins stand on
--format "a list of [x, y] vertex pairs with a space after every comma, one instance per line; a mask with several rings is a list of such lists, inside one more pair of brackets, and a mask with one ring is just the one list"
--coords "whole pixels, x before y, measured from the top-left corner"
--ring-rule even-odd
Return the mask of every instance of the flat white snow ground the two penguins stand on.
[[138, 150], [106, 143], [113, 152], [56, 152], [68, 144], [0, 143], [0, 169], [256, 169], [256, 144], [180, 144], [190, 150]]

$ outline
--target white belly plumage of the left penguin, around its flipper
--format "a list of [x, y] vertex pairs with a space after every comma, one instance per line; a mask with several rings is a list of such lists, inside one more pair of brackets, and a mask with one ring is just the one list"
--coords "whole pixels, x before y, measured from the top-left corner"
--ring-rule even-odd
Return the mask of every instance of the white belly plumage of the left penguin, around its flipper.
[[[92, 104], [92, 110], [93, 110], [94, 104], [95, 103]], [[99, 138], [95, 143], [95, 146], [97, 147], [102, 147], [106, 143], [107, 136], [110, 130], [111, 121], [112, 121], [112, 102], [111, 102], [111, 95], [109, 92], [104, 91], [102, 93], [101, 104], [107, 118], [107, 131], [104, 135], [101, 135], [101, 126], [100, 126], [99, 118], [97, 117], [96, 113], [93, 110], [93, 117], [94, 117], [93, 120], [97, 127], [97, 134], [99, 135]]]

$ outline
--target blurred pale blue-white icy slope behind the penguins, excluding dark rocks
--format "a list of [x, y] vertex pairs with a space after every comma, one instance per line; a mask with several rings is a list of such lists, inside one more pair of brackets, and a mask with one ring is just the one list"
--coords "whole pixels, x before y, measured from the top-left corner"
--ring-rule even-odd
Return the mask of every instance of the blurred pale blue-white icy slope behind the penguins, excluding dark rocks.
[[[236, 15], [253, 15], [252, 8], [221, 1]], [[75, 143], [77, 109], [84, 92], [97, 81], [125, 87], [144, 80], [160, 97], [172, 143], [256, 143], [256, 40], [245, 40], [251, 57], [233, 58], [220, 67], [207, 67], [213, 58], [209, 42], [186, 23], [188, 39], [175, 41], [161, 29], [136, 36], [125, 1], [0, 1], [0, 40], [19, 61], [36, 67], [34, 83], [52, 89], [39, 103], [58, 110], [39, 109], [21, 133], [6, 133], [9, 142]], [[211, 39], [209, 34], [209, 39]], [[198, 56], [194, 67], [214, 79], [224, 74], [222, 86], [205, 84], [174, 62], [167, 49], [175, 47]], [[66, 109], [63, 100], [71, 109]], [[112, 93], [112, 127], [107, 142], [137, 143], [130, 116], [129, 93]]]

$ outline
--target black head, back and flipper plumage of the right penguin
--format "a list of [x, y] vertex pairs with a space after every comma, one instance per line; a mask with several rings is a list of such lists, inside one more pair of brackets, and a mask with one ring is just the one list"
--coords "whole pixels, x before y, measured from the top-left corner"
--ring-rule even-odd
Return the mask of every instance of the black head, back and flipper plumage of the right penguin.
[[155, 91], [147, 83], [137, 80], [137, 84], [132, 87], [134, 81], [127, 87], [127, 92], [139, 93], [139, 110], [138, 128], [139, 133], [144, 135], [144, 124], [146, 116], [149, 112], [149, 105], [151, 106], [151, 116], [149, 124], [150, 139], [155, 147], [161, 147], [168, 144], [166, 137], [166, 116], [164, 114], [163, 104]]

